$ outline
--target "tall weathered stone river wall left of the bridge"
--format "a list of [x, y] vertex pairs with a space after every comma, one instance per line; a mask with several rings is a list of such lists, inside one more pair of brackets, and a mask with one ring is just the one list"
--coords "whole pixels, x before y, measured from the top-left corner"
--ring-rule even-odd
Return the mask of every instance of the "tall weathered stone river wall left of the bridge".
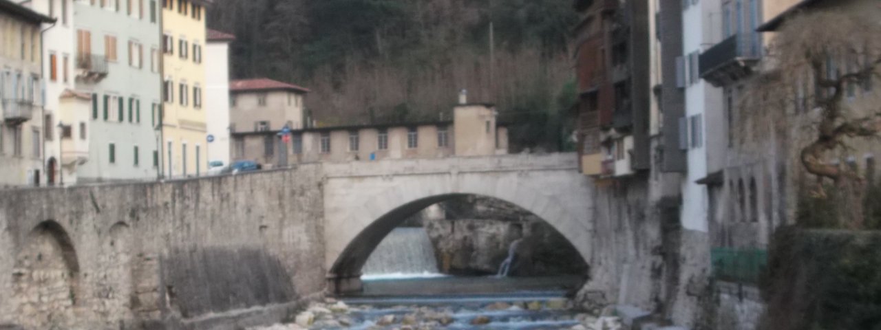
[[[324, 289], [321, 177], [320, 165], [306, 165], [0, 191], [0, 269], [13, 270], [0, 275], [0, 327], [198, 329], [218, 319], [226, 328], [278, 320]], [[269, 308], [242, 312], [257, 306]]]

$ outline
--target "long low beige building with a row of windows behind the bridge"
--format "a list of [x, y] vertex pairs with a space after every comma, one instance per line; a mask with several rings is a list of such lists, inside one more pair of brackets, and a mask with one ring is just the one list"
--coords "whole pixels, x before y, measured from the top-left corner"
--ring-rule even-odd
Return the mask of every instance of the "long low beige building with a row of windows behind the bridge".
[[263, 168], [299, 163], [507, 154], [507, 128], [494, 106], [455, 106], [453, 121], [235, 132], [233, 160]]

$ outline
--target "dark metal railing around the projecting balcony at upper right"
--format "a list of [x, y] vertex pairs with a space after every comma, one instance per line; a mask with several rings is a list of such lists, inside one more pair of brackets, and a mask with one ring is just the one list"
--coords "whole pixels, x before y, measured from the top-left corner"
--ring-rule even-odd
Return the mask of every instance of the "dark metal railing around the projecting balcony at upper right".
[[736, 63], [737, 60], [758, 60], [761, 52], [759, 33], [737, 33], [700, 54], [700, 76], [719, 70], [729, 63]]

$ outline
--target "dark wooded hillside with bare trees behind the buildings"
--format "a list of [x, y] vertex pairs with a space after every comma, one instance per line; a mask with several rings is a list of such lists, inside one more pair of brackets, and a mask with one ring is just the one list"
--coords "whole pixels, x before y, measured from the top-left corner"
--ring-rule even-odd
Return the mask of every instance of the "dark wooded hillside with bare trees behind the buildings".
[[319, 125], [449, 120], [459, 91], [493, 103], [512, 151], [572, 148], [568, 0], [216, 0], [233, 78], [312, 90]]

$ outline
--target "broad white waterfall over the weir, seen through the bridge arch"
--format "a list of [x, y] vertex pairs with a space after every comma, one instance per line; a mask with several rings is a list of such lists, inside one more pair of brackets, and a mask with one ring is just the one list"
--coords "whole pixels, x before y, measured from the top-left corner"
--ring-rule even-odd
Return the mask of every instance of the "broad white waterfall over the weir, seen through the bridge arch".
[[421, 227], [391, 231], [370, 254], [362, 272], [364, 279], [440, 275], [432, 242]]

